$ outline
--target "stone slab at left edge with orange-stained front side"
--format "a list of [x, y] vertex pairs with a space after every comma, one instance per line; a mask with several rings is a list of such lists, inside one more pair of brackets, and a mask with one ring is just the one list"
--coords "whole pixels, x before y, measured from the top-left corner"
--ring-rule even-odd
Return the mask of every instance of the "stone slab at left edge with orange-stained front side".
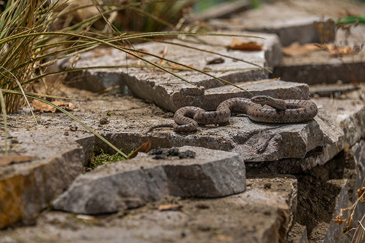
[[[0, 167], [0, 228], [18, 221], [34, 222], [51, 199], [83, 171], [85, 158], [90, 157], [86, 153], [94, 143], [93, 135], [80, 132], [69, 136], [57, 130], [10, 132], [11, 154], [32, 155], [34, 159]], [[4, 137], [0, 143], [4, 146]]]

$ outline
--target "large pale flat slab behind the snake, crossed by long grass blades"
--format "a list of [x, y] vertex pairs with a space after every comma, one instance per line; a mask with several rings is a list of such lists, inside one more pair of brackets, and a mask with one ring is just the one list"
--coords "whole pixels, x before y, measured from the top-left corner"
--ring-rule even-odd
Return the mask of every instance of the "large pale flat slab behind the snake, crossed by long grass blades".
[[[230, 32], [230, 34], [232, 34], [232, 32]], [[160, 56], [164, 53], [164, 50], [167, 50], [165, 58], [184, 63], [185, 65], [191, 65], [194, 68], [204, 69], [209, 74], [223, 78], [231, 83], [242, 83], [267, 78], [268, 72], [260, 67], [273, 67], [279, 63], [281, 59], [281, 51], [277, 36], [267, 33], [244, 32], [240, 34], [258, 35], [266, 38], [265, 40], [260, 38], [240, 38], [247, 42], [254, 41], [258, 44], [262, 44], [263, 50], [253, 52], [227, 50], [227, 46], [230, 45], [233, 38], [222, 36], [199, 36], [200, 42], [196, 43], [195, 41], [193, 47], [221, 53], [233, 58], [243, 59], [245, 61], [252, 62], [257, 66], [253, 66], [242, 61], [236, 61], [228, 57], [222, 57], [224, 60], [223, 63], [209, 65], [207, 64], [207, 61], [220, 56], [173, 44], [150, 42], [135, 45], [134, 48]], [[189, 38], [188, 41], [189, 40], [193, 41], [194, 39]], [[171, 42], [179, 45], [187, 45], [187, 42], [182, 42], [178, 39], [174, 39]], [[204, 42], [208, 44], [202, 44]], [[215, 46], [211, 47], [209, 45], [210, 43], [214, 43]], [[188, 45], [192, 44], [188, 43]], [[150, 61], [157, 62], [155, 57], [143, 57]], [[140, 65], [141, 63], [136, 58], [128, 58], [126, 60], [125, 54], [116, 49], [95, 49], [83, 53], [77, 58], [77, 61], [74, 61], [72, 58], [70, 58], [69, 62], [68, 60], [63, 60], [63, 62], [60, 62], [60, 66], [66, 68], [69, 66], [69, 63], [72, 63], [74, 68], [80, 68], [105, 66], [105, 63], [111, 66], [125, 64]], [[166, 63], [162, 64], [165, 65], [165, 67], [167, 65]], [[134, 95], [142, 99], [153, 101], [160, 107], [164, 107], [172, 111], [175, 111], [177, 108], [182, 106], [186, 106], [187, 104], [200, 104], [202, 103], [201, 100], [204, 101], [204, 99], [206, 99], [203, 95], [205, 93], [210, 93], [209, 89], [224, 85], [221, 81], [196, 71], [178, 71], [175, 69], [172, 69], [172, 71], [189, 80], [189, 82], [199, 88], [196, 88], [169, 73], [153, 69], [151, 67], [129, 67], [128, 69], [89, 69], [80, 72], [72, 72], [67, 79], [71, 80], [69, 85], [77, 85], [78, 88], [91, 90], [93, 92], [115, 85], [118, 85], [119, 87], [128, 86], [128, 89]], [[75, 80], [75, 77], [80, 77], [78, 79], [79, 81]], [[114, 80], [114, 83], [109, 82], [109, 80]], [[96, 83], [99, 83], [100, 85]], [[293, 85], [289, 84], [288, 86]], [[237, 90], [236, 92], [238, 94], [235, 93], [233, 95], [242, 96], [242, 91]], [[247, 96], [250, 96], [250, 94], [245, 94], [245, 97]]]

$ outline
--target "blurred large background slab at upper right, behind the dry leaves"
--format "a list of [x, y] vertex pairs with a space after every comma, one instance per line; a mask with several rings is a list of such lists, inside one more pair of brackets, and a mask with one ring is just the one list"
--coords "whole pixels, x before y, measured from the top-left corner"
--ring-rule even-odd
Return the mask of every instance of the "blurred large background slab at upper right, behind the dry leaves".
[[[278, 14], [280, 13], [280, 14]], [[265, 16], [265, 18], [263, 18]], [[329, 42], [335, 37], [335, 24], [323, 15], [308, 14], [305, 9], [283, 2], [262, 4], [231, 17], [208, 22], [217, 29], [276, 33], [283, 46], [300, 43]]]

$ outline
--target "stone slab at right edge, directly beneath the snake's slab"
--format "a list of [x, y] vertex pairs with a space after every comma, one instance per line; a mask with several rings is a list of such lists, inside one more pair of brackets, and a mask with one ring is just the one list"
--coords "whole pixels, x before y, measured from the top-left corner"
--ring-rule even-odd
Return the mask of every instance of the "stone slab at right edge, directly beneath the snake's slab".
[[[346, 146], [352, 146], [365, 136], [365, 105], [359, 100], [340, 100], [317, 98], [317, 105], [322, 105], [336, 120], [334, 134], [339, 136], [337, 142], [326, 144], [309, 151], [304, 158], [286, 158], [261, 164], [246, 164], [247, 167], [263, 167], [278, 173], [300, 173], [317, 165], [324, 165]], [[339, 131], [338, 128], [342, 131]]]

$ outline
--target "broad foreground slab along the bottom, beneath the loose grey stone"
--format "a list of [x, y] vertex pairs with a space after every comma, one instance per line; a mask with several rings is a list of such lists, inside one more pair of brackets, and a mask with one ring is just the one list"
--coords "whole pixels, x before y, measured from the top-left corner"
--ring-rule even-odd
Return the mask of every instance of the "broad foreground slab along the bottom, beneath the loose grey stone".
[[[164, 198], [134, 210], [86, 217], [44, 212], [35, 226], [2, 231], [5, 240], [39, 242], [285, 242], [296, 209], [292, 176], [247, 179], [243, 193], [214, 199]], [[270, 185], [270, 186], [269, 186]], [[158, 210], [177, 205], [177, 210]], [[10, 241], [11, 242], [11, 241]]]

